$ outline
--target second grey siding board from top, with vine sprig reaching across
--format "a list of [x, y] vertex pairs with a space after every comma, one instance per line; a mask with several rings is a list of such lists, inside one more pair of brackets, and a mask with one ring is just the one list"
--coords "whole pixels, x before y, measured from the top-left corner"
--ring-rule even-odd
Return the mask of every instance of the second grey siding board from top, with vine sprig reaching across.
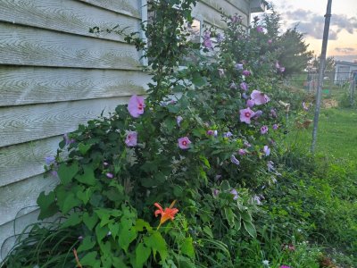
[[89, 33], [89, 29], [95, 26], [112, 29], [119, 25], [118, 29], [125, 29], [126, 34], [140, 29], [140, 21], [137, 18], [112, 13], [75, 0], [2, 0], [0, 21], [121, 42], [125, 42], [122, 35]]

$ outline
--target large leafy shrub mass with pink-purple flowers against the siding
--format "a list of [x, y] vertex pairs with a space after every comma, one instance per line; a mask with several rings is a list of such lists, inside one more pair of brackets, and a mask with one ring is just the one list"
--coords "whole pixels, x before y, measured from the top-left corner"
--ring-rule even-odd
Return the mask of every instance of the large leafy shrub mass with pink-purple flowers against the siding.
[[[131, 96], [129, 105], [118, 106], [109, 117], [79, 126], [70, 134], [73, 142], [61, 143], [56, 164], [48, 162], [61, 183], [38, 197], [40, 218], [60, 214], [57, 230], [68, 237], [58, 239], [62, 233], [54, 229], [58, 244], [46, 257], [58, 253], [67, 266], [77, 260], [88, 267], [234, 267], [240, 241], [257, 237], [253, 216], [263, 201], [256, 191], [266, 183], [259, 178], [274, 151], [272, 135], [277, 135], [268, 129], [280, 123], [271, 86], [276, 59], [252, 50], [261, 46], [259, 37], [248, 38], [241, 20], [226, 18], [220, 42], [212, 44], [214, 29], [204, 33], [203, 50], [215, 61], [202, 56], [200, 64], [187, 63], [178, 71], [179, 56], [188, 52], [181, 51], [185, 34], [177, 37], [173, 29], [190, 20], [188, 9], [195, 1], [184, 2], [187, 13], [161, 1], [151, 3], [162, 17], [156, 29], [146, 28], [155, 81], [149, 96]], [[157, 36], [161, 33], [165, 38]], [[142, 41], [127, 39], [143, 47]], [[166, 39], [170, 44], [162, 43]], [[157, 55], [169, 51], [159, 49], [169, 45], [170, 55]], [[164, 94], [171, 90], [180, 93], [176, 101]], [[260, 110], [251, 110], [253, 105]], [[272, 110], [277, 111], [274, 121]], [[67, 159], [61, 158], [62, 151]], [[169, 205], [172, 200], [177, 201]], [[76, 259], [64, 258], [74, 247]], [[35, 263], [29, 259], [26, 264]]]

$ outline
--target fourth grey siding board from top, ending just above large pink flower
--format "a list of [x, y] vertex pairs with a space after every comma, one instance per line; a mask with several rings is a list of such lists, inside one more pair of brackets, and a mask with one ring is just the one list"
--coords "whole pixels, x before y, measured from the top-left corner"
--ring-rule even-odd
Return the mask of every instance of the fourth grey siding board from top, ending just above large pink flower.
[[141, 95], [143, 71], [0, 66], [0, 106]]

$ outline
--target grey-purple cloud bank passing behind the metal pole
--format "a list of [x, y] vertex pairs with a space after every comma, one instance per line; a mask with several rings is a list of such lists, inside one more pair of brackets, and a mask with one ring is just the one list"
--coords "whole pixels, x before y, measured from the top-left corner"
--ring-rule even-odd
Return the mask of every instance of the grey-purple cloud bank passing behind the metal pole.
[[[291, 26], [297, 25], [297, 29], [311, 38], [322, 39], [325, 25], [325, 18], [318, 13], [313, 13], [304, 9], [288, 11], [284, 16]], [[329, 36], [330, 40], [336, 40], [342, 30], [353, 34], [357, 32], [357, 17], [347, 17], [343, 14], [333, 14], [331, 17]]]

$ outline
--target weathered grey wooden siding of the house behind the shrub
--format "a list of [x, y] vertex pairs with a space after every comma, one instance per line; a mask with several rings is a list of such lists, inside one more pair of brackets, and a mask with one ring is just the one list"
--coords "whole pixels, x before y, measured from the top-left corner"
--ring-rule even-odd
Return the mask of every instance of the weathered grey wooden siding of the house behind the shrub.
[[[221, 11], [249, 21], [248, 0], [202, 0], [194, 15], [222, 28]], [[145, 94], [135, 47], [89, 32], [140, 21], [141, 0], [0, 0], [0, 260], [57, 182], [43, 178], [44, 159], [62, 134]]]

